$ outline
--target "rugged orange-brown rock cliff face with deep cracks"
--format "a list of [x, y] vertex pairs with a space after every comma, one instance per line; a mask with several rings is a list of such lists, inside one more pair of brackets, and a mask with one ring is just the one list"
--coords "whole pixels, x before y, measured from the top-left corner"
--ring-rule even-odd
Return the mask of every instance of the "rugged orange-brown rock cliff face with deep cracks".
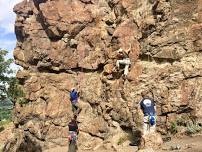
[[[202, 122], [201, 0], [24, 0], [14, 12], [17, 77], [28, 103], [16, 104], [10, 149], [67, 145], [72, 87], [83, 105], [81, 149], [109, 141], [117, 127], [141, 127], [145, 89], [157, 103], [161, 133], [183, 115]], [[113, 71], [116, 50], [130, 44], [123, 79]]]

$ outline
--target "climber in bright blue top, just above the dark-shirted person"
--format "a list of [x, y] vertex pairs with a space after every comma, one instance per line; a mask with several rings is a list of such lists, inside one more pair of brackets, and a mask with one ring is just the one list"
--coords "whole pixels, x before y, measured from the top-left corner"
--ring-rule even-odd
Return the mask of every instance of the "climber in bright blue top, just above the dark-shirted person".
[[81, 106], [79, 103], [79, 92], [75, 88], [72, 88], [70, 91], [70, 101], [72, 104], [73, 113], [78, 115], [81, 111]]

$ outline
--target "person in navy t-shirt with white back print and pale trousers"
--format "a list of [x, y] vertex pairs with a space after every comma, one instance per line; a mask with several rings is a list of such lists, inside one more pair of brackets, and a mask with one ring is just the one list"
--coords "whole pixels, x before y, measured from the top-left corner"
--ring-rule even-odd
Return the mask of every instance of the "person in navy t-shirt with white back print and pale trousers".
[[140, 108], [144, 114], [143, 136], [154, 133], [156, 130], [156, 105], [148, 94], [149, 91], [143, 91], [141, 93], [143, 99], [140, 101]]

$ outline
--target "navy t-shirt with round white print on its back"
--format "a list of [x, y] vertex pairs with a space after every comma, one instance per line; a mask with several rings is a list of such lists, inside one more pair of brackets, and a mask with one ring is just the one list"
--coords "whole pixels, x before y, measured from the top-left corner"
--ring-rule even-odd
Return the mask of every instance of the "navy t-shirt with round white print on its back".
[[155, 103], [152, 99], [144, 98], [140, 102], [141, 109], [144, 113], [144, 116], [155, 115]]

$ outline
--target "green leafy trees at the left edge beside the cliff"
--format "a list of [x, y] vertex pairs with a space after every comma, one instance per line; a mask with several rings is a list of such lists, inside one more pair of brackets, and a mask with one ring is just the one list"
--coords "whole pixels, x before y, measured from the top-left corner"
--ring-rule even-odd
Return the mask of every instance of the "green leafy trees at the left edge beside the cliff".
[[[13, 59], [6, 59], [8, 51], [0, 49], [0, 121], [11, 121], [16, 102], [26, 104], [24, 91], [10, 68]], [[0, 124], [1, 125], [1, 124]]]

